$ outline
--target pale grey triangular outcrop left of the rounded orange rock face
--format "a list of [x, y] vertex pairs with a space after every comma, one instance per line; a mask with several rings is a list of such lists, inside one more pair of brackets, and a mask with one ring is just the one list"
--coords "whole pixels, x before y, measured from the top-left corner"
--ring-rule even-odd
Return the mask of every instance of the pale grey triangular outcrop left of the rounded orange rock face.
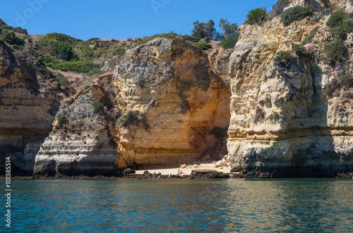
[[54, 130], [35, 158], [35, 174], [114, 174], [119, 163], [117, 146], [105, 115], [92, 106], [92, 96], [79, 96], [56, 114]]

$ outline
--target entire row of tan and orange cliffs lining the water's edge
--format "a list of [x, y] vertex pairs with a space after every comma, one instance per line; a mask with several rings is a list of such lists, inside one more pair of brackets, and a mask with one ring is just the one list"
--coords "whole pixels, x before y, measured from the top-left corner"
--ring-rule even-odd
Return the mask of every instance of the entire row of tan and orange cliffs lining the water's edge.
[[[297, 5], [314, 15], [285, 27], [280, 14]], [[234, 49], [209, 56], [179, 36], [155, 36], [107, 61], [109, 73], [66, 103], [32, 50], [15, 56], [0, 41], [0, 163], [11, 156], [19, 172], [101, 175], [228, 153], [239, 177], [345, 176], [353, 32], [326, 25], [337, 10], [350, 15], [352, 2], [279, 1], [263, 23], [239, 27]], [[337, 34], [345, 57], [329, 58]]]

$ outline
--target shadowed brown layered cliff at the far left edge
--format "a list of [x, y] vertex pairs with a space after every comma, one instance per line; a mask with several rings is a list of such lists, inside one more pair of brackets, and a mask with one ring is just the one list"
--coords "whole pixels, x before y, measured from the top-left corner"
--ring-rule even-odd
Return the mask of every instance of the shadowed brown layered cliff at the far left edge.
[[10, 156], [13, 174], [32, 172], [38, 145], [52, 130], [59, 108], [54, 93], [40, 90], [36, 63], [32, 53], [16, 58], [0, 42], [0, 163]]

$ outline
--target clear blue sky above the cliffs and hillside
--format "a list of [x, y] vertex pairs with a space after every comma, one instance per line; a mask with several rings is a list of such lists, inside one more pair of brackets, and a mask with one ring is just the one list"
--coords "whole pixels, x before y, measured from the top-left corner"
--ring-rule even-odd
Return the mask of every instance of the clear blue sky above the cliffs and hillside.
[[0, 18], [30, 34], [60, 32], [78, 39], [127, 39], [163, 32], [191, 34], [193, 22], [221, 18], [241, 25], [253, 8], [277, 0], [16, 0], [1, 1]]

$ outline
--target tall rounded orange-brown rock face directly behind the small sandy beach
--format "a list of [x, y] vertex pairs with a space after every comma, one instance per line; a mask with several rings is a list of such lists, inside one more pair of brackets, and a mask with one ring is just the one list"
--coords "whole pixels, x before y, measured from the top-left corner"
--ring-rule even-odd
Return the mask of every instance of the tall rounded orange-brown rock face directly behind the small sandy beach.
[[120, 128], [120, 168], [198, 160], [219, 143], [213, 127], [229, 124], [225, 82], [210, 70], [207, 55], [183, 39], [157, 38], [127, 51], [114, 84], [119, 108], [139, 115]]

